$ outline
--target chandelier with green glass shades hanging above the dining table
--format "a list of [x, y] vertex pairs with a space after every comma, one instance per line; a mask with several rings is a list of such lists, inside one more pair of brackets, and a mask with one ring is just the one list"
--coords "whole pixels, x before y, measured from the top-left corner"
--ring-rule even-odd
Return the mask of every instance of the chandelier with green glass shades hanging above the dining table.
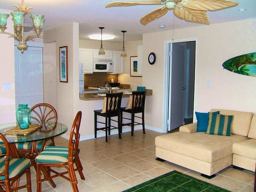
[[[27, 41], [29, 40], [34, 41], [34, 38], [36, 37], [42, 38], [40, 34], [41, 34], [43, 23], [45, 20], [44, 20], [44, 15], [30, 14], [30, 11], [28, 10], [30, 10], [32, 7], [26, 8], [24, 4], [24, 0], [21, 0], [21, 2], [22, 2], [21, 7], [14, 5], [17, 8], [17, 10], [10, 12], [12, 16], [12, 21], [14, 22], [14, 34], [9, 32], [4, 32], [7, 25], [7, 19], [9, 17], [9, 14], [6, 14], [6, 13], [0, 13], [0, 34], [8, 34], [10, 35], [10, 37], [17, 40], [19, 42], [17, 47], [23, 53], [24, 50], [28, 48], [28, 45], [26, 44]], [[24, 37], [24, 17], [26, 16], [26, 14], [30, 14], [30, 18], [33, 21], [35, 33], [29, 34], [25, 38]]]

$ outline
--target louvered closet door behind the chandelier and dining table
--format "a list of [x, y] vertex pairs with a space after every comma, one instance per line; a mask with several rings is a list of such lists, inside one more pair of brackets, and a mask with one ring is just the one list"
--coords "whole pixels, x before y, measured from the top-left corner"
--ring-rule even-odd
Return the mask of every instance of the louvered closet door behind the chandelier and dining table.
[[19, 104], [31, 108], [43, 102], [42, 47], [28, 47], [22, 54], [14, 46], [15, 57], [15, 99]]

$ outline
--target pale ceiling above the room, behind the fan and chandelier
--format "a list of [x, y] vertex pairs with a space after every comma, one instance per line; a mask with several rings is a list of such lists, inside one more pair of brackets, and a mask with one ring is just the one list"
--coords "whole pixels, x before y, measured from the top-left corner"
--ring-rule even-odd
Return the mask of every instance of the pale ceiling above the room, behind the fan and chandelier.
[[[219, 11], [208, 11], [206, 14], [210, 24], [256, 18], [256, 0], [233, 1], [238, 2], [239, 5]], [[98, 27], [101, 26], [105, 27], [102, 30], [103, 34], [115, 36], [114, 40], [108, 40], [109, 42], [122, 42], [123, 34], [121, 30], [127, 31], [125, 41], [134, 41], [142, 40], [142, 34], [144, 33], [172, 30], [174, 27], [172, 11], [146, 26], [140, 24], [140, 18], [162, 5], [105, 8], [107, 3], [116, 2], [116, 0], [24, 0], [24, 2], [26, 7], [33, 7], [31, 9], [32, 14], [44, 14], [46, 21], [43, 30], [56, 28], [68, 22], [78, 22], [79, 37], [82, 39], [88, 39], [89, 35], [100, 33]], [[14, 10], [13, 4], [21, 6], [21, 0], [0, 0], [0, 9]], [[246, 11], [238, 11], [240, 8], [245, 8]], [[30, 18], [26, 17], [26, 22], [30, 22]], [[165, 25], [166, 28], [160, 29], [158, 25]], [[176, 29], [201, 25], [185, 22], [175, 17]]]

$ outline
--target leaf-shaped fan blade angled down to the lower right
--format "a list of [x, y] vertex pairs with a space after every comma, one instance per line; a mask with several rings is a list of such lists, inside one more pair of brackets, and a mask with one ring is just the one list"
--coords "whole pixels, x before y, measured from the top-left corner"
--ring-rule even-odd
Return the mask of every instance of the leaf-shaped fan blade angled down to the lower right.
[[176, 6], [173, 12], [176, 17], [182, 20], [184, 19], [185, 21], [210, 24], [206, 15], [206, 11], [192, 10], [187, 8], [179, 9]]

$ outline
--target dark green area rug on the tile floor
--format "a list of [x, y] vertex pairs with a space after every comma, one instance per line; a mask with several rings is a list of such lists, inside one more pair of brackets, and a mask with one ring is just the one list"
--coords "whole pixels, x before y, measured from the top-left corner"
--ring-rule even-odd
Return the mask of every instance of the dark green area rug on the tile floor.
[[210, 183], [172, 171], [123, 192], [229, 192]]

